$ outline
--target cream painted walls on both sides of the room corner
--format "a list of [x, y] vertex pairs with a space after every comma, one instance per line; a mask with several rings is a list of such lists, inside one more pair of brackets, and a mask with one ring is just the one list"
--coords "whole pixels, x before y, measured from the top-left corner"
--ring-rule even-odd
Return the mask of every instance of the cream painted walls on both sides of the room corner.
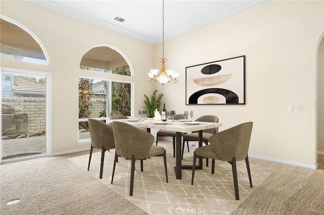
[[[165, 94], [167, 110], [193, 110], [194, 119], [215, 114], [223, 123], [220, 131], [253, 121], [250, 156], [315, 167], [316, 53], [324, 31], [323, 1], [271, 1], [165, 41], [167, 65], [180, 72], [178, 84], [165, 86], [146, 82], [147, 71], [159, 65], [161, 44], [154, 47], [26, 2], [2, 1], [1, 14], [37, 35], [50, 56], [49, 66], [10, 60], [2, 60], [1, 66], [53, 73], [53, 152], [85, 147], [71, 139], [77, 136], [77, 78], [95, 73], [80, 71], [78, 65], [89, 48], [109, 44], [123, 51], [134, 69], [135, 77], [125, 80], [135, 82], [135, 110], [145, 108], [143, 94], [155, 87]], [[246, 105], [185, 105], [185, 67], [242, 55]]]

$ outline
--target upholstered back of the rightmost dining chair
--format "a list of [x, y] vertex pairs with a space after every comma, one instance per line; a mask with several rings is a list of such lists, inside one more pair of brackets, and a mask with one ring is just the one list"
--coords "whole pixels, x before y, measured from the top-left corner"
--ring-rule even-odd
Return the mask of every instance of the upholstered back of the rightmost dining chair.
[[253, 122], [242, 123], [214, 134], [209, 142], [221, 160], [231, 162], [233, 157], [236, 157], [236, 161], [245, 159], [248, 156], [252, 127]]

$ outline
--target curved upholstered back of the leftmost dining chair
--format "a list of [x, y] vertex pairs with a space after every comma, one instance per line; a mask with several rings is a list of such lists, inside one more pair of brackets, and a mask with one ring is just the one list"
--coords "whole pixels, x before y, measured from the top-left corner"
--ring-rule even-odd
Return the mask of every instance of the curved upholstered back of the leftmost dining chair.
[[111, 149], [115, 147], [112, 126], [95, 119], [88, 119], [91, 145], [95, 148]]

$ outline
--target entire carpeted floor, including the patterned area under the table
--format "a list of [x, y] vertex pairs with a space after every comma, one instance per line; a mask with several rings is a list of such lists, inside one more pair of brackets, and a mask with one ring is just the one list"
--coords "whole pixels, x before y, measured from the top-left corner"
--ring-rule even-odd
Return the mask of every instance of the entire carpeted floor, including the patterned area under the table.
[[[172, 144], [159, 145], [172, 156]], [[192, 149], [185, 150], [185, 162], [192, 159]], [[131, 197], [130, 160], [119, 160], [110, 184], [113, 153], [106, 152], [102, 180], [99, 150], [90, 171], [89, 151], [0, 165], [0, 214], [324, 214], [324, 155], [318, 156], [318, 170], [250, 158], [254, 187], [244, 163], [239, 164], [236, 201], [229, 164], [217, 163], [215, 175], [204, 164], [191, 186], [189, 170], [182, 180], [174, 178], [171, 156], [168, 184], [161, 157], [145, 160], [144, 172], [137, 162]], [[14, 199], [20, 201], [6, 204]]]

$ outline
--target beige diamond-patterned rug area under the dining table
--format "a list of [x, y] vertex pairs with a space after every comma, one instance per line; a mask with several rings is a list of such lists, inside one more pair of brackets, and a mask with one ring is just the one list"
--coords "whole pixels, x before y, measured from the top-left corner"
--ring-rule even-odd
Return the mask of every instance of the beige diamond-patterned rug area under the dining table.
[[[140, 172], [140, 162], [136, 163], [134, 193], [129, 196], [130, 160], [119, 158], [116, 165], [114, 182], [111, 184], [114, 150], [106, 152], [102, 181], [112, 190], [124, 196], [149, 214], [230, 214], [273, 172], [272, 169], [250, 164], [253, 188], [245, 161], [237, 162], [237, 175], [240, 200], [235, 200], [231, 165], [227, 162], [216, 162], [215, 174], [211, 167], [197, 170], [194, 185], [191, 186], [191, 170], [182, 171], [182, 179], [175, 179], [172, 143], [159, 141], [167, 149], [169, 183], [166, 183], [162, 157], [152, 157], [144, 161], [144, 172]], [[192, 151], [184, 155], [183, 164], [192, 164]], [[70, 157], [69, 160], [82, 170], [99, 180], [100, 152], [93, 154], [90, 171], [87, 171], [89, 155]], [[210, 162], [211, 163], [211, 162]], [[211, 165], [210, 165], [211, 166]]]

